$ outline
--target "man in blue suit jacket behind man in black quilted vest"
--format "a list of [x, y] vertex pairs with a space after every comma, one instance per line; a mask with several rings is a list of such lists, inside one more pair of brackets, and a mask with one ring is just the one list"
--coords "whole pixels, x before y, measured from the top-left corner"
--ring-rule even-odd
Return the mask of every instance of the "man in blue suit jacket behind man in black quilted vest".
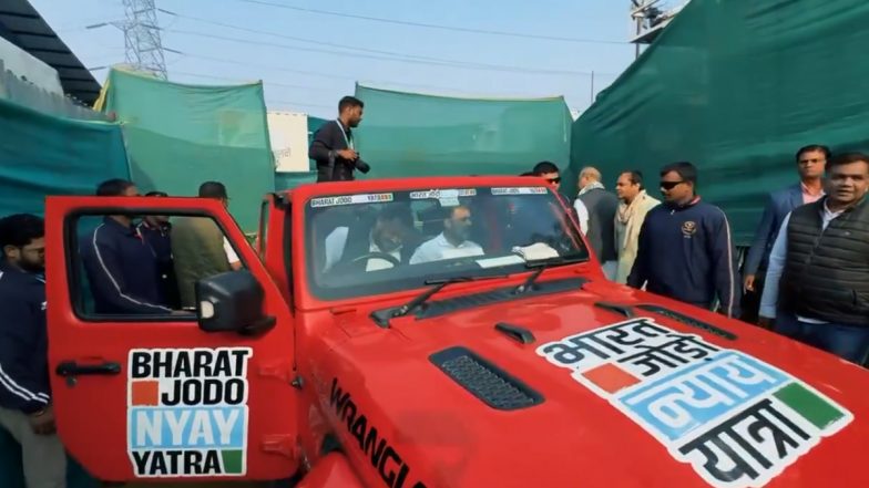
[[797, 152], [797, 170], [799, 183], [769, 194], [769, 201], [764, 209], [764, 217], [757, 226], [755, 240], [745, 258], [745, 295], [743, 297], [743, 320], [758, 322], [760, 295], [764, 292], [766, 270], [769, 264], [769, 252], [778, 236], [785, 217], [797, 207], [814, 204], [824, 196], [824, 170], [830, 149], [827, 146], [812, 144]]

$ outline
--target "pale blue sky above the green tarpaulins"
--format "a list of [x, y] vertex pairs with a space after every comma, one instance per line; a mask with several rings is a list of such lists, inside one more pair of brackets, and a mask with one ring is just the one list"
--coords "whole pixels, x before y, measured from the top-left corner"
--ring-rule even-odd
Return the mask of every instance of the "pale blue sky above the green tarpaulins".
[[[106, 76], [98, 68], [124, 62], [120, 29], [88, 29], [123, 21], [122, 0], [30, 2], [84, 65], [95, 69], [98, 81]], [[166, 52], [171, 81], [263, 80], [269, 110], [320, 117], [335, 116], [337, 101], [352, 94], [357, 82], [448, 96], [563, 95], [571, 110], [583, 111], [592, 93], [615, 81], [634, 59], [634, 46], [627, 43], [628, 0], [155, 3], [171, 12], [157, 15], [163, 45], [180, 52]]]

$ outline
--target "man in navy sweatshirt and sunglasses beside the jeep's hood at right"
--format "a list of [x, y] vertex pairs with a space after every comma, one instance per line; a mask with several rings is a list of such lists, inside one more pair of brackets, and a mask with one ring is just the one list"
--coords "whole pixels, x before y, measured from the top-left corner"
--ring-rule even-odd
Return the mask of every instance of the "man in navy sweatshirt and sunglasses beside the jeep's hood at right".
[[720, 208], [696, 194], [697, 168], [674, 163], [661, 170], [664, 205], [650, 210], [640, 230], [633, 288], [712, 309], [717, 298], [727, 316], [739, 315], [739, 277], [730, 226]]

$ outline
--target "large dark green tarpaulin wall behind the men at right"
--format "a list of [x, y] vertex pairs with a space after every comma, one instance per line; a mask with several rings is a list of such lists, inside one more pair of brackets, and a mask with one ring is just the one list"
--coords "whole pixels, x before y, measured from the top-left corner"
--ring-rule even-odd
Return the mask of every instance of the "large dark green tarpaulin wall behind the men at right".
[[573, 126], [572, 168], [691, 160], [699, 193], [749, 243], [807, 144], [869, 148], [869, 2], [693, 0]]

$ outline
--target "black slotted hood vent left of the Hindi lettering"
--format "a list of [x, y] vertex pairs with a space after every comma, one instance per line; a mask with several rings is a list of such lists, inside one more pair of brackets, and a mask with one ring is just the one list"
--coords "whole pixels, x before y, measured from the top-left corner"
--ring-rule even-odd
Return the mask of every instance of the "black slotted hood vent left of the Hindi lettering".
[[515, 411], [543, 403], [539, 393], [466, 347], [450, 347], [429, 360], [492, 408]]

